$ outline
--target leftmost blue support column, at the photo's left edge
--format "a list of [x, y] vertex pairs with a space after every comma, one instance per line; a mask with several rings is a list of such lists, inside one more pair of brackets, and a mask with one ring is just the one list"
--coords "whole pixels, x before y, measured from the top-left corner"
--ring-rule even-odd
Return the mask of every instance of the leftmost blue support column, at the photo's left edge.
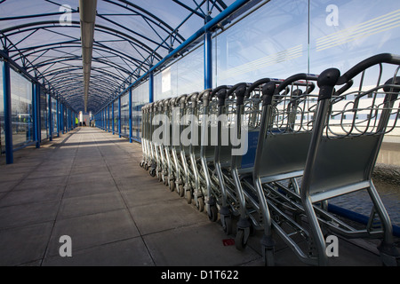
[[[5, 51], [8, 54], [8, 51]], [[4, 136], [5, 136], [5, 162], [14, 162], [12, 152], [12, 99], [11, 99], [11, 79], [10, 63], [3, 61], [3, 96], [4, 96]]]

